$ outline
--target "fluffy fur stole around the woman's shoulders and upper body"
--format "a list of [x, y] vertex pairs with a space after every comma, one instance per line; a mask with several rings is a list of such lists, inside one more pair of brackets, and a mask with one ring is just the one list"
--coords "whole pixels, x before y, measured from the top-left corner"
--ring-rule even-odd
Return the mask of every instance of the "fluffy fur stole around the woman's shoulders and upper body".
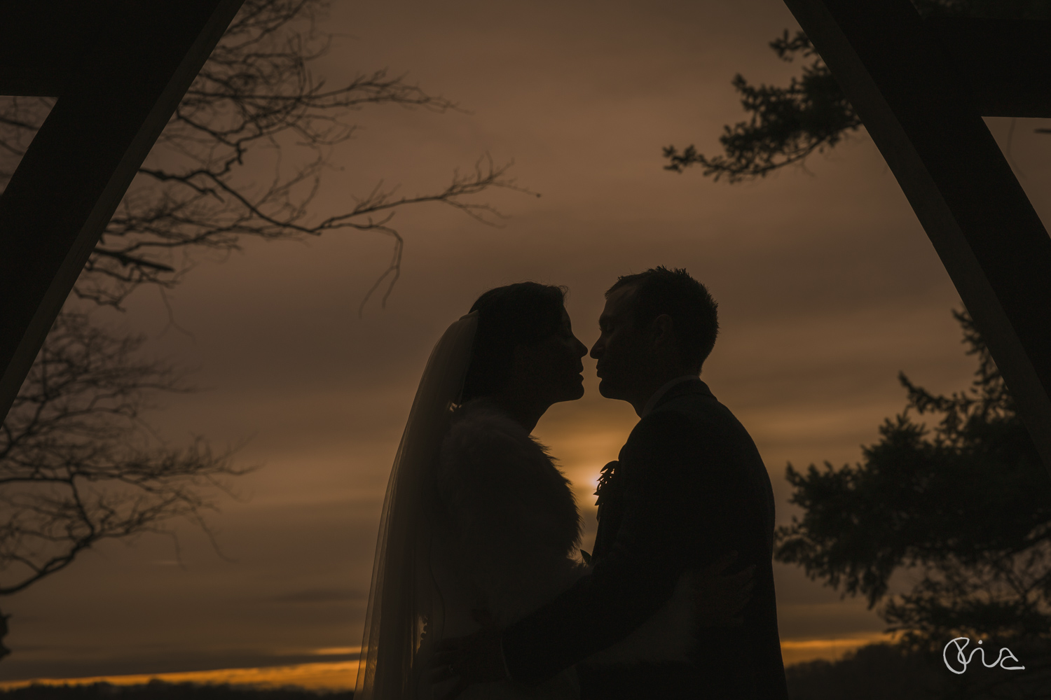
[[461, 598], [501, 625], [588, 573], [573, 557], [580, 514], [548, 449], [486, 399], [454, 416], [438, 463], [446, 568]]

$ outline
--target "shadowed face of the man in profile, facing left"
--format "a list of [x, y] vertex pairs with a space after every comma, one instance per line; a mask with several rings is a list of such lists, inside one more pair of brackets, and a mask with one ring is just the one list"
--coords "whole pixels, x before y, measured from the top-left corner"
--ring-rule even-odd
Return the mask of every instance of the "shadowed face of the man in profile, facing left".
[[605, 299], [598, 318], [601, 332], [591, 356], [598, 360], [599, 394], [631, 401], [640, 384], [640, 372], [650, 358], [644, 330], [635, 327], [635, 288], [622, 287]]

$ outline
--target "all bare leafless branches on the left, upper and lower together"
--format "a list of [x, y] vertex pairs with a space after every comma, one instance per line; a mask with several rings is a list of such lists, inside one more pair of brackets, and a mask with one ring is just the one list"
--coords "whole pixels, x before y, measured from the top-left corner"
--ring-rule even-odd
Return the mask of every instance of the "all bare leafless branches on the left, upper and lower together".
[[[392, 256], [364, 307], [385, 282], [386, 302], [397, 280], [404, 239], [392, 218], [399, 208], [440, 204], [494, 222], [499, 213], [472, 195], [526, 191], [507, 177], [508, 165], [487, 155], [432, 192], [403, 196], [378, 183], [348, 209], [318, 215], [322, 177], [333, 148], [353, 136], [358, 110], [458, 109], [384, 70], [335, 87], [315, 79], [311, 65], [331, 41], [317, 28], [327, 5], [245, 2], [95, 247], [77, 297], [121, 309], [136, 289], [171, 288], [194, 254], [236, 250], [242, 236], [373, 232], [392, 239]], [[53, 105], [2, 100], [0, 187]], [[186, 389], [170, 364], [137, 359], [142, 341], [114, 338], [69, 310], [56, 322], [0, 434], [0, 595], [64, 569], [101, 539], [168, 532], [165, 524], [178, 517], [207, 532], [212, 487], [246, 471], [203, 439], [171, 447], [153, 437], [141, 411], [159, 394]]]

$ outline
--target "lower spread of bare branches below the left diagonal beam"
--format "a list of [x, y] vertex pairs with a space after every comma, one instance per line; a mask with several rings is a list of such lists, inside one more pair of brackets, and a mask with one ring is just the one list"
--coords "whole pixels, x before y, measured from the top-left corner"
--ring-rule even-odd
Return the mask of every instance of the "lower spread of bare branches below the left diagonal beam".
[[[142, 421], [158, 391], [185, 391], [145, 338], [59, 316], [0, 428], [0, 595], [68, 567], [102, 539], [171, 533], [203, 518], [215, 488], [250, 470], [195, 440], [172, 447]], [[0, 646], [0, 656], [7, 652]]]

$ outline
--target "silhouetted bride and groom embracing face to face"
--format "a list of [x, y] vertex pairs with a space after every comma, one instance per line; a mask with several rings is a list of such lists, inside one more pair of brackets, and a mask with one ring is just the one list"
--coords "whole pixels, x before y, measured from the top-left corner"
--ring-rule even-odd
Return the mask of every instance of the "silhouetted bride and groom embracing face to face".
[[602, 469], [584, 564], [570, 483], [530, 436], [583, 396], [563, 295], [490, 290], [435, 346], [384, 504], [355, 700], [785, 700], [770, 481], [698, 377], [715, 301], [664, 268], [606, 292], [599, 391], [640, 420]]

